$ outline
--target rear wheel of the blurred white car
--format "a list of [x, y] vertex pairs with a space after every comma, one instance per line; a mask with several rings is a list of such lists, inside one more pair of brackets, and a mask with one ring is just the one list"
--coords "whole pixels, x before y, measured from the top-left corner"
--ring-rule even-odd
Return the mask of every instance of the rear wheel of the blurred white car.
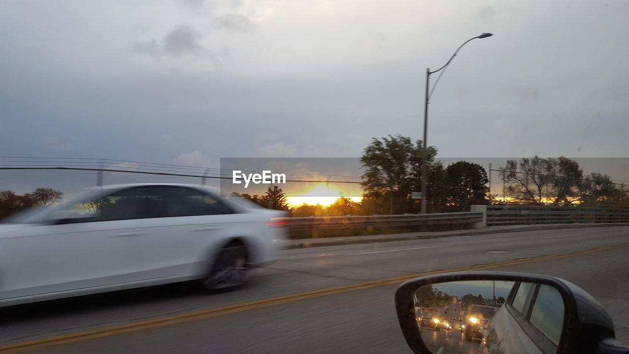
[[230, 291], [247, 282], [250, 266], [247, 248], [243, 244], [228, 244], [221, 248], [202, 285], [210, 291]]

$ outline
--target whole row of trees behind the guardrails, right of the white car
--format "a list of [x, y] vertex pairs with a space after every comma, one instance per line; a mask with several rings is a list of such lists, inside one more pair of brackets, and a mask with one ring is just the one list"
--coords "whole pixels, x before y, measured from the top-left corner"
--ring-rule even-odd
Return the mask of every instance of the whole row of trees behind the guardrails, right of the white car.
[[[363, 195], [361, 202], [340, 197], [332, 205], [303, 204], [290, 208], [285, 193], [274, 186], [263, 196], [240, 195], [263, 207], [287, 210], [292, 216], [416, 214], [420, 200], [423, 143], [402, 135], [372, 139], [360, 157]], [[458, 161], [443, 166], [435, 161], [437, 148], [428, 147], [426, 207], [428, 212], [462, 212], [470, 205], [608, 205], [629, 207], [629, 188], [623, 190], [606, 174], [585, 174], [567, 157], [508, 160], [499, 169], [504, 197], [489, 195], [489, 178], [481, 165]]]

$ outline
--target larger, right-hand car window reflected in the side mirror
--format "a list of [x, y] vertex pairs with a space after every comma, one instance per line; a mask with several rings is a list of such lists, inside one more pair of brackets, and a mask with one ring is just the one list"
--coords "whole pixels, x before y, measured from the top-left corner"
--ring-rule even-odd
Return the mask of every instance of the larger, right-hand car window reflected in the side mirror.
[[529, 322], [555, 345], [559, 344], [564, 326], [564, 300], [557, 289], [540, 285]]

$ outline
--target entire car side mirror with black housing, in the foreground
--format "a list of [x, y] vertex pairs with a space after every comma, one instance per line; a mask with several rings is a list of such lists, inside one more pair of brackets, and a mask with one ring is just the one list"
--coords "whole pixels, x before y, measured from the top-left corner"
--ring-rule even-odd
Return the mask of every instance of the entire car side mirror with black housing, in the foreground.
[[[615, 340], [603, 307], [560, 278], [442, 273], [403, 283], [395, 302], [404, 338], [415, 353], [629, 353]], [[443, 316], [457, 308], [466, 315], [462, 321]], [[443, 317], [453, 323], [443, 323]]]

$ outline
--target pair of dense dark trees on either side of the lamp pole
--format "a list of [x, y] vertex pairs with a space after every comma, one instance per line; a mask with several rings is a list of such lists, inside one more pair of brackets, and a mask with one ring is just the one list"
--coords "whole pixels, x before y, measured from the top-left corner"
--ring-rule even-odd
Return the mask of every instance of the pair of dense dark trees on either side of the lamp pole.
[[421, 171], [426, 164], [428, 181], [426, 209], [428, 212], [460, 212], [472, 204], [487, 204], [489, 179], [479, 164], [459, 161], [443, 166], [435, 161], [437, 148], [427, 149], [423, 161], [423, 142], [409, 137], [389, 135], [372, 139], [360, 157], [364, 173], [364, 209], [369, 214], [415, 214], [420, 200], [411, 198], [421, 191]]

